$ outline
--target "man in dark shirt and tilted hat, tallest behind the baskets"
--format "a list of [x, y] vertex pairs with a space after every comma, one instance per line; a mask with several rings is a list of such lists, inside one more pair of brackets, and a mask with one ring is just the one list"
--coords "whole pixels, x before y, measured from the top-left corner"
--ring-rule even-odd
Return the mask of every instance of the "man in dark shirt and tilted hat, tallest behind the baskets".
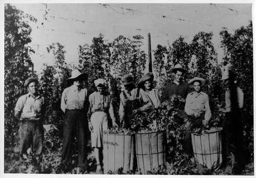
[[[186, 99], [187, 95], [190, 93], [190, 88], [187, 83], [182, 81], [183, 74], [186, 70], [183, 69], [181, 64], [176, 64], [172, 69], [174, 73], [174, 81], [168, 83], [163, 92], [162, 102], [170, 101], [172, 96], [181, 96]], [[187, 119], [187, 114], [184, 111], [184, 106], [182, 106], [178, 112], [178, 118], [175, 118], [175, 122], [178, 124], [183, 124], [184, 120]]]

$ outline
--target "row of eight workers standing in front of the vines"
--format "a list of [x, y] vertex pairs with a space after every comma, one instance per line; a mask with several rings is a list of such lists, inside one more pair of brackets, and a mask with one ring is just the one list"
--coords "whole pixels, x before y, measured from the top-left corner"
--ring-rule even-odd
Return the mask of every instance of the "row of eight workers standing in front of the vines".
[[[108, 116], [112, 119], [113, 127], [130, 128], [134, 114], [144, 110], [158, 108], [162, 102], [170, 100], [174, 95], [186, 99], [184, 107], [178, 110], [175, 122], [182, 124], [190, 122], [190, 130], [207, 125], [211, 117], [208, 95], [202, 92], [202, 87], [206, 84], [205, 79], [195, 77], [188, 83], [182, 80], [186, 70], [181, 64], [176, 64], [172, 69], [174, 81], [165, 86], [163, 95], [153, 86], [154, 75], [145, 74], [139, 81], [138, 87], [134, 84], [134, 79], [127, 74], [122, 77], [121, 85], [123, 91], [120, 94], [119, 106], [119, 124], [114, 114], [112, 97], [106, 91], [106, 81], [97, 79], [94, 81], [96, 91], [88, 95], [88, 90], [82, 83], [88, 79], [88, 75], [80, 73], [78, 70], [72, 71], [72, 76], [67, 80], [72, 85], [62, 93], [61, 109], [65, 113], [63, 123], [63, 149], [62, 162], [71, 167], [72, 150], [74, 138], [77, 138], [78, 146], [78, 172], [87, 173], [87, 131], [91, 131], [91, 146], [94, 148], [95, 159], [97, 162], [96, 173], [102, 174], [102, 137], [103, 131], [108, 129]], [[225, 147], [223, 155], [229, 157], [232, 138], [236, 138], [234, 146], [236, 147], [236, 159], [242, 159], [241, 143], [241, 121], [239, 119], [240, 109], [243, 107], [243, 92], [234, 83], [234, 75], [226, 71], [221, 80], [227, 84], [225, 94], [225, 107], [219, 111], [226, 113], [226, 119], [223, 124], [223, 136]], [[44, 138], [44, 112], [46, 103], [44, 97], [38, 93], [38, 80], [29, 77], [25, 81], [28, 88], [28, 94], [21, 96], [15, 107], [15, 117], [20, 122], [20, 157], [27, 154], [27, 149], [31, 147], [32, 152], [40, 155], [42, 152], [42, 142]], [[192, 91], [194, 88], [194, 91]], [[234, 119], [235, 118], [235, 119]], [[236, 131], [235, 131], [236, 130]], [[184, 150], [191, 154], [190, 133], [185, 136]], [[32, 146], [31, 146], [32, 145]]]

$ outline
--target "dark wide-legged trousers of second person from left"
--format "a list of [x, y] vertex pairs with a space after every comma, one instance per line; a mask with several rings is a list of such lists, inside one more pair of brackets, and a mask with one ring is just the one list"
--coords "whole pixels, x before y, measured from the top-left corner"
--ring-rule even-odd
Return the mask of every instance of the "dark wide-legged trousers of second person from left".
[[88, 121], [84, 110], [66, 110], [63, 125], [62, 162], [71, 166], [74, 137], [77, 137], [78, 167], [87, 168]]

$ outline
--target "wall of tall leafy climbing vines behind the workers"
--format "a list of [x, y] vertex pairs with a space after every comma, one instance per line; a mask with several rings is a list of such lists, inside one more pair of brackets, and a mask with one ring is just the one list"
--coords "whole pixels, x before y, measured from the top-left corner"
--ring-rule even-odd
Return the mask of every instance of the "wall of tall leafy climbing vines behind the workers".
[[[54, 65], [45, 64], [42, 72], [37, 74], [33, 71], [33, 63], [29, 56], [34, 50], [29, 47], [32, 39], [28, 20], [36, 22], [34, 17], [24, 14], [14, 6], [5, 5], [5, 172], [16, 172], [15, 166], [19, 166], [18, 163], [10, 164], [11, 158], [16, 158], [18, 149], [18, 124], [14, 118], [14, 107], [17, 99], [27, 92], [24, 88], [26, 78], [39, 77], [40, 94], [45, 96], [48, 103], [45, 122], [57, 125], [61, 133], [63, 113], [60, 109], [60, 98], [64, 88], [70, 86], [66, 79], [71, 76], [72, 70], [79, 69], [89, 74], [88, 81], [84, 83], [89, 94], [95, 90], [93, 84], [95, 79], [104, 78], [108, 81], [117, 118], [121, 77], [130, 73], [137, 84], [147, 72], [145, 71], [147, 55], [140, 48], [142, 36], [119, 35], [113, 41], [107, 41], [103, 34], [99, 34], [92, 39], [91, 45], [84, 43], [83, 46], [78, 47], [78, 66], [66, 63], [64, 46], [58, 42], [49, 44], [47, 51], [52, 54]], [[213, 35], [211, 32], [198, 32], [190, 43], [181, 36], [168, 47], [159, 44], [153, 51], [155, 87], [162, 91], [164, 86], [173, 80], [170, 69], [175, 64], [181, 63], [188, 71], [184, 76], [185, 81], [195, 76], [206, 79], [207, 85], [203, 91], [208, 94], [210, 100], [212, 112], [210, 124], [220, 125], [224, 115], [218, 112], [218, 108], [224, 104], [225, 88], [219, 79], [221, 70], [229, 66], [237, 74], [237, 84], [245, 94], [242, 118], [245, 148], [249, 154], [248, 159], [253, 159], [252, 21], [249, 21], [247, 27], [241, 27], [234, 33], [228, 32], [226, 28], [220, 32], [221, 47], [225, 52], [222, 64], [218, 64], [216, 50], [211, 42]], [[61, 134], [46, 136], [45, 143], [48, 144], [45, 145], [48, 150], [46, 151], [48, 154], [45, 154], [46, 162], [49, 161], [51, 154], [60, 155], [61, 137]], [[54, 150], [55, 146], [57, 149]], [[59, 160], [51, 161], [59, 165], [57, 163]], [[27, 168], [29, 166], [28, 162]], [[55, 168], [49, 168], [48, 165], [44, 170], [51, 172]], [[63, 173], [63, 171], [59, 170], [55, 173]], [[178, 174], [182, 174], [182, 171], [178, 171]]]

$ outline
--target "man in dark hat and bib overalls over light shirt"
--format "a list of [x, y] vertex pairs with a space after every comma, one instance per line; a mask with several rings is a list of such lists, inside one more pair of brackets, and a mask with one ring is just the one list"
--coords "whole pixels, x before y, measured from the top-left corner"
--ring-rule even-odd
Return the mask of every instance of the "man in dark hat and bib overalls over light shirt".
[[120, 94], [119, 118], [125, 128], [130, 128], [133, 115], [150, 109], [152, 103], [141, 88], [135, 88], [131, 75], [124, 75], [121, 84], [124, 90]]

